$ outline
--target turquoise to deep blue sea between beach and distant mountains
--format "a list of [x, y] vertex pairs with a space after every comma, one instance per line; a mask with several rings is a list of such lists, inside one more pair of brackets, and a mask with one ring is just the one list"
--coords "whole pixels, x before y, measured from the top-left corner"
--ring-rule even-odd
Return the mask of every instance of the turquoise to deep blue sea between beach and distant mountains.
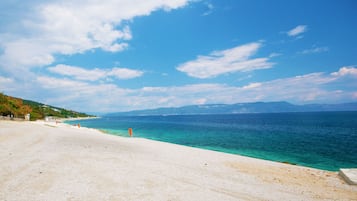
[[104, 116], [68, 121], [112, 135], [169, 142], [317, 169], [357, 168], [357, 112]]

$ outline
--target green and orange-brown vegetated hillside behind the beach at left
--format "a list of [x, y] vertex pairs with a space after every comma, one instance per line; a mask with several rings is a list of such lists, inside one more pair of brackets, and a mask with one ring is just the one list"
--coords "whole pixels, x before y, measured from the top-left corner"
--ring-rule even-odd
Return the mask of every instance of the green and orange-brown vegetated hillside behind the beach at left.
[[88, 117], [85, 113], [66, 110], [53, 107], [30, 100], [22, 100], [0, 93], [0, 116], [11, 116], [15, 118], [24, 118], [24, 115], [30, 114], [30, 120], [44, 119], [52, 116], [58, 118], [69, 117]]

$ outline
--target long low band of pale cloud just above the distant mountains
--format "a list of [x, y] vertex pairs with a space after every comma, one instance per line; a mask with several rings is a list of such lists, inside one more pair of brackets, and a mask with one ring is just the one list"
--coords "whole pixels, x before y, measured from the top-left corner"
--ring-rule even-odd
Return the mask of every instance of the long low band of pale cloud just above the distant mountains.
[[[8, 83], [5, 86], [15, 83], [5, 77], [0, 77], [0, 82]], [[126, 89], [114, 84], [38, 76], [26, 86], [14, 87], [17, 87], [16, 91], [31, 91], [26, 98], [46, 104], [78, 111], [113, 112], [255, 101], [289, 101], [298, 104], [349, 102], [357, 101], [357, 86], [354, 83], [357, 83], [357, 68], [342, 67], [332, 73], [310, 73], [243, 86], [210, 83]], [[9, 90], [12, 89], [6, 88], [3, 92]]]

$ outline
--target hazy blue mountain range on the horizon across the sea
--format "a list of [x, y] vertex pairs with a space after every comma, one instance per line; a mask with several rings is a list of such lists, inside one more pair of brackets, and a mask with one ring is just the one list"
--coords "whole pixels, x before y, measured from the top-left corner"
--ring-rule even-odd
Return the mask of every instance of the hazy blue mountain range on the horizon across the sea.
[[288, 102], [255, 102], [237, 104], [206, 104], [184, 107], [135, 110], [110, 113], [106, 116], [150, 116], [150, 115], [191, 115], [191, 114], [241, 114], [241, 113], [280, 113], [318, 111], [357, 111], [357, 102], [344, 104], [294, 105]]

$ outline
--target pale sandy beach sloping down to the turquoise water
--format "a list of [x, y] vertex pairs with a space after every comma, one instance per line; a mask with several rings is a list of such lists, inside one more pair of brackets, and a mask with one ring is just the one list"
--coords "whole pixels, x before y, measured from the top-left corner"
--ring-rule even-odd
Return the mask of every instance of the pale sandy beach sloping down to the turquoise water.
[[0, 200], [357, 200], [337, 172], [123, 138], [54, 122], [0, 121]]

